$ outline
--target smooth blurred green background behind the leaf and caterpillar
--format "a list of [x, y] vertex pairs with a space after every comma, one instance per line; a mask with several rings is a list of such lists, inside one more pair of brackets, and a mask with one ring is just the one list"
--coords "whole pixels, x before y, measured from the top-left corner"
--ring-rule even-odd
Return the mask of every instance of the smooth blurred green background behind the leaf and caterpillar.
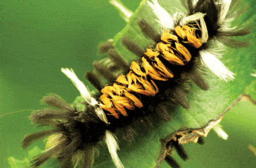
[[[139, 2], [123, 1], [132, 11]], [[255, 11], [255, 3], [248, 3]], [[35, 131], [28, 116], [46, 107], [39, 103], [42, 96], [57, 93], [71, 103], [79, 95], [61, 67], [72, 68], [82, 79], [93, 60], [102, 58], [98, 44], [113, 38], [126, 23], [106, 0], [1, 0], [0, 16], [0, 167], [10, 167], [8, 157], [22, 160], [32, 149], [23, 151], [20, 142]], [[249, 101], [238, 103], [221, 122], [228, 140], [211, 131], [205, 145], [185, 144], [189, 161], [174, 157], [183, 167], [256, 167], [248, 148], [256, 147], [255, 110]], [[35, 145], [44, 148], [42, 140]]]

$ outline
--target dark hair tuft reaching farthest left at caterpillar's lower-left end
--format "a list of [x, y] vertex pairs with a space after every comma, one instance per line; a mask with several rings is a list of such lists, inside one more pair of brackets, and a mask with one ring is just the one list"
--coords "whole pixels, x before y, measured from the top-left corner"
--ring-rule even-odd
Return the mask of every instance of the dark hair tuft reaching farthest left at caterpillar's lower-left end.
[[30, 146], [30, 144], [32, 144], [32, 142], [43, 138], [45, 136], [50, 136], [51, 134], [56, 134], [57, 129], [53, 129], [53, 130], [41, 130], [38, 132], [34, 132], [32, 134], [27, 135], [23, 140], [22, 140], [22, 148], [26, 149], [28, 146]]

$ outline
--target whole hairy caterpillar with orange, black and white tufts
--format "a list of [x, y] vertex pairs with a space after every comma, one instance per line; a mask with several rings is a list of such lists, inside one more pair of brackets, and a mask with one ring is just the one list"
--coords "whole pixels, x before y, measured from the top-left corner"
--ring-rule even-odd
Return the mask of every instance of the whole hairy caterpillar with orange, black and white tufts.
[[[22, 147], [26, 149], [34, 140], [50, 136], [46, 151], [32, 161], [32, 167], [42, 165], [53, 156], [61, 161], [62, 167], [71, 167], [71, 161], [78, 156], [81, 167], [92, 167], [96, 147], [102, 140], [106, 142], [115, 165], [124, 167], [117, 155], [119, 146], [113, 132], [127, 127], [125, 138], [131, 140], [133, 135], [129, 126], [135, 120], [156, 113], [171, 120], [166, 110], [154, 108], [162, 101], [170, 101], [170, 97], [189, 109], [189, 101], [181, 89], [184, 80], [189, 77], [203, 90], [210, 87], [197, 71], [200, 61], [220, 79], [229, 81], [234, 78], [234, 73], [209, 51], [210, 42], [218, 40], [233, 47], [247, 45], [246, 42], [234, 42], [230, 37], [247, 35], [251, 27], [225, 29], [231, 1], [199, 0], [194, 3], [189, 0], [184, 3], [187, 15], [177, 21], [158, 1], [152, 2], [147, 3], [156, 13], [164, 31], [159, 34], [145, 19], [139, 20], [141, 32], [155, 44], [143, 50], [131, 39], [123, 37], [123, 45], [139, 56], [131, 65], [119, 56], [112, 42], [104, 44], [101, 50], [106, 50], [113, 62], [123, 68], [124, 75], [115, 77], [95, 62], [95, 69], [108, 81], [108, 85], [102, 87], [100, 79], [90, 71], [86, 73], [86, 78], [100, 91], [100, 95], [90, 95], [72, 70], [61, 69], [81, 93], [86, 108], [77, 110], [77, 107], [53, 94], [42, 99], [59, 110], [46, 108], [30, 116], [34, 124], [53, 127], [52, 130], [30, 134], [22, 141]], [[171, 160], [169, 156], [166, 159]]]

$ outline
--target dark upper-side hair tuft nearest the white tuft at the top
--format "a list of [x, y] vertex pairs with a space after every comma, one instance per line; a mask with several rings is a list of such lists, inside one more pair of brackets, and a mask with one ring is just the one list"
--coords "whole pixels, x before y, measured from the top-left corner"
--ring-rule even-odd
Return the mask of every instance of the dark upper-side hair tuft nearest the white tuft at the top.
[[151, 40], [156, 43], [160, 42], [160, 34], [156, 32], [156, 30], [154, 30], [154, 28], [150, 26], [150, 24], [148, 24], [145, 19], [139, 20], [139, 28], [141, 29], [141, 32], [143, 32], [143, 34]]

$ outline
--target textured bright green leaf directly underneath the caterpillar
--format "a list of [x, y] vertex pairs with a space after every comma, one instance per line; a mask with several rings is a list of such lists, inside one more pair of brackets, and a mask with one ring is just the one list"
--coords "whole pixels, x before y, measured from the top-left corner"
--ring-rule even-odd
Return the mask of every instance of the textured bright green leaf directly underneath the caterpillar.
[[[179, 2], [175, 2], [175, 4], [170, 4], [166, 1], [158, 2], [169, 12], [170, 5], [182, 9]], [[247, 11], [247, 14], [249, 12], [250, 10]], [[161, 31], [152, 9], [148, 7], [146, 1], [142, 1], [133, 17], [130, 18], [127, 26], [114, 38], [115, 49], [121, 54], [123, 59], [129, 62], [137, 59], [137, 57], [123, 46], [121, 43], [122, 36], [133, 39], [133, 41], [137, 42], [142, 48], [146, 48], [152, 44], [148, 38], [143, 36], [139, 29], [137, 23], [141, 18], [146, 19], [156, 30]], [[241, 22], [240, 19], [243, 18], [239, 18], [238, 22]], [[243, 37], [241, 39], [252, 38], [253, 36], [255, 36], [255, 34], [250, 34], [246, 38]], [[154, 128], [144, 128], [138, 125], [134, 128], [136, 132], [135, 140], [131, 142], [131, 144], [125, 142], [122, 139], [121, 132], [118, 132], [117, 137], [119, 137], [121, 148], [119, 157], [123, 165], [125, 167], [154, 167], [160, 153], [161, 138], [165, 138], [168, 134], [184, 128], [202, 128], [210, 120], [215, 120], [220, 115], [224, 114], [222, 112], [224, 112], [224, 110], [241, 95], [245, 87], [254, 80], [250, 73], [255, 69], [256, 58], [253, 56], [255, 54], [254, 41], [249, 48], [226, 48], [225, 54], [220, 60], [230, 71], [236, 74], [234, 81], [226, 83], [210, 71], [207, 71], [204, 77], [210, 85], [208, 91], [202, 91], [193, 83], [189, 83], [188, 97], [191, 104], [189, 110], [185, 110], [180, 106], [175, 108], [175, 110], [170, 110], [173, 120], [171, 122], [162, 121]], [[104, 148], [104, 146], [102, 148]], [[106, 158], [108, 158], [108, 160]], [[104, 148], [104, 150], [100, 151], [100, 156], [96, 159], [94, 167], [106, 166], [115, 167], [108, 156], [108, 151]]]

